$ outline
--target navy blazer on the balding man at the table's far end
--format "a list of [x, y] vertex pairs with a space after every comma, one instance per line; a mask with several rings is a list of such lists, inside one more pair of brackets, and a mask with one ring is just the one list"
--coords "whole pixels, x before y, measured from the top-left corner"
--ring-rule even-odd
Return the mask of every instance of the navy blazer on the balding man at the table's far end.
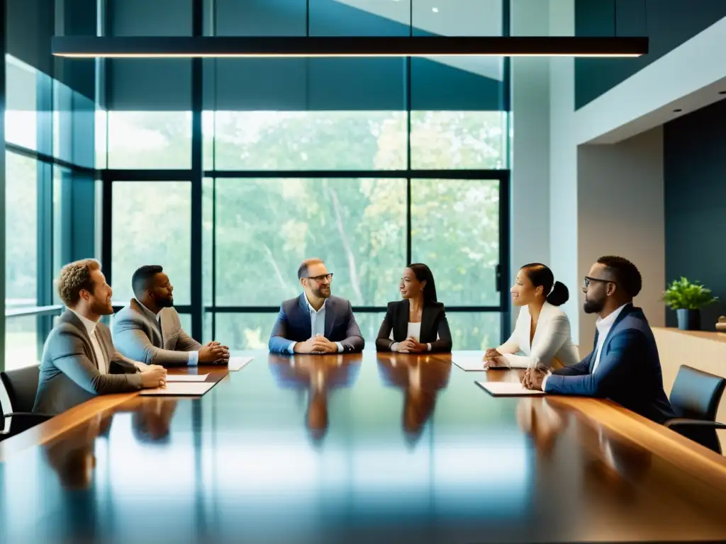
[[[270, 335], [269, 350], [272, 353], [288, 353], [290, 342], [305, 342], [311, 335], [308, 302], [303, 293], [282, 302]], [[340, 297], [325, 300], [325, 338], [330, 342], [340, 342], [343, 353], [363, 350], [365, 342], [361, 329], [347, 300]]]

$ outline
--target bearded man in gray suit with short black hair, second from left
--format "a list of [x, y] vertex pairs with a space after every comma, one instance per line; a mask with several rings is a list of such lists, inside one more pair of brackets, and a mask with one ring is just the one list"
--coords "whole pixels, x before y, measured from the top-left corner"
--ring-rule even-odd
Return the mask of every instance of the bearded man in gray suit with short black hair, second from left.
[[113, 320], [117, 349], [134, 360], [161, 366], [227, 364], [229, 347], [219, 342], [201, 345], [181, 329], [174, 309], [174, 286], [159, 265], [134, 272], [135, 298]]

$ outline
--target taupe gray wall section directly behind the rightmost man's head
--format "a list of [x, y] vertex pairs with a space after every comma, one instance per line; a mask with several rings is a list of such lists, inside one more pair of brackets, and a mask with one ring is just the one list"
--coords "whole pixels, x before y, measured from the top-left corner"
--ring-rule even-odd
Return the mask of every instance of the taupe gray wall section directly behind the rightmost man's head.
[[[632, 260], [643, 276], [635, 304], [652, 326], [665, 324], [663, 157], [662, 127], [619, 144], [577, 150], [579, 278], [602, 255]], [[582, 311], [582, 290], [579, 302], [580, 345], [591, 346], [595, 318]]]

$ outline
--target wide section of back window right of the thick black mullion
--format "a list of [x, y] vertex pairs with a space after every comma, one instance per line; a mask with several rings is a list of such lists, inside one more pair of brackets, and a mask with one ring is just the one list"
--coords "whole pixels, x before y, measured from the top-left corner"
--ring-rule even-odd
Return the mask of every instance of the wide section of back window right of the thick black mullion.
[[[290, 1], [285, 10], [217, 2], [205, 31], [502, 34], [499, 0], [439, 4]], [[499, 342], [505, 74], [497, 58], [205, 61], [205, 198], [213, 200], [205, 300], [214, 337], [265, 347], [280, 302], [301, 290], [300, 261], [321, 257], [369, 341], [386, 302], [399, 298], [402, 268], [419, 261], [436, 276], [454, 347]]]

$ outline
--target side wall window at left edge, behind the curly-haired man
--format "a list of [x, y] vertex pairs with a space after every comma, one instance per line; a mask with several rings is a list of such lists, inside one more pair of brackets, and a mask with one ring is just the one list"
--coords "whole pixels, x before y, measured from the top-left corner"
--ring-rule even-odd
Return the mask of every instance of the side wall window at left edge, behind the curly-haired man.
[[[9, 44], [23, 50], [14, 41]], [[54, 289], [60, 267], [72, 257], [73, 210], [78, 183], [94, 180], [92, 154], [79, 147], [92, 137], [94, 123], [83, 120], [93, 101], [33, 65], [6, 54], [5, 112], [5, 353], [2, 366], [38, 362], [43, 343], [62, 306]], [[91, 108], [92, 111], [92, 108]], [[93, 215], [91, 208], [86, 215]], [[76, 238], [94, 239], [76, 221]], [[92, 242], [91, 242], [92, 246]], [[86, 255], [93, 257], [93, 253]]]

